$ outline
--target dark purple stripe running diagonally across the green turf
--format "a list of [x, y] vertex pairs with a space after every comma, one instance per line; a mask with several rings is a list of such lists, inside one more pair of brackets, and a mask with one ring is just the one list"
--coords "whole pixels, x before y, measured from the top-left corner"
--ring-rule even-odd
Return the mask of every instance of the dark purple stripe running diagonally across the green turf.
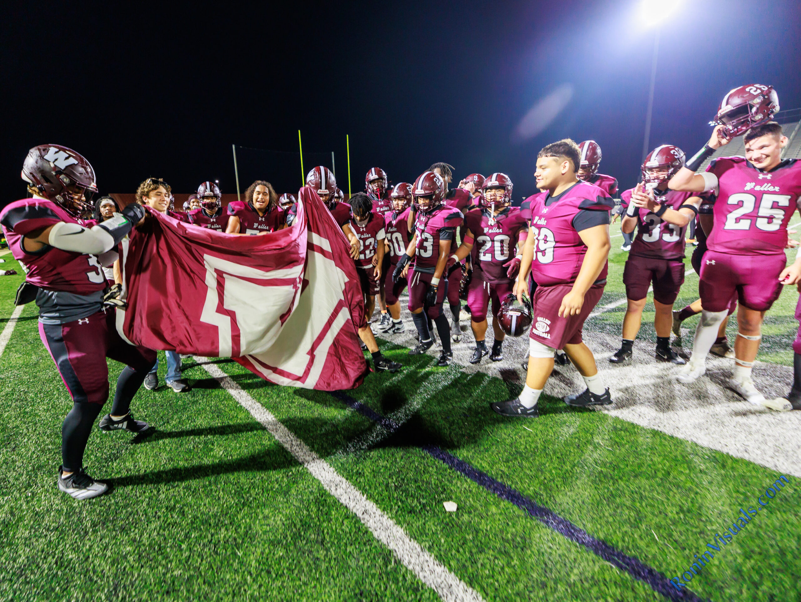
[[[380, 426], [383, 426], [390, 432], [394, 432], [400, 428], [400, 425], [390, 418], [386, 418], [384, 415], [372, 410], [372, 408], [365, 406], [364, 403], [356, 401], [356, 399], [350, 397], [348, 394], [344, 393], [344, 391], [334, 391], [332, 395], [339, 399], [340, 402], [347, 404], [353, 410], [359, 412], [359, 414], [380, 424]], [[641, 580], [648, 584], [654, 592], [662, 594], [662, 596], [670, 600], [691, 600], [692, 602], [704, 602], [704, 600], [708, 600], [696, 596], [687, 588], [682, 588], [682, 591], [679, 592], [666, 576], [650, 568], [647, 564], [642, 563], [638, 558], [628, 556], [622, 551], [614, 549], [614, 547], [602, 539], [594, 538], [581, 527], [577, 527], [574, 523], [571, 523], [570, 520], [563, 519], [552, 510], [534, 503], [531, 499], [521, 494], [520, 491], [493, 479], [485, 472], [478, 470], [464, 460], [458, 459], [455, 455], [442, 450], [440, 447], [427, 445], [421, 449], [433, 458], [445, 463], [448, 467], [453, 468], [454, 471], [461, 473], [473, 481], [473, 483], [484, 487], [490, 493], [497, 495], [501, 499], [505, 499], [509, 503], [513, 503], [546, 527], [550, 527], [567, 539], [581, 544], [602, 560], [606, 560], [606, 562], [613, 564], [621, 571], [629, 573], [634, 579]]]

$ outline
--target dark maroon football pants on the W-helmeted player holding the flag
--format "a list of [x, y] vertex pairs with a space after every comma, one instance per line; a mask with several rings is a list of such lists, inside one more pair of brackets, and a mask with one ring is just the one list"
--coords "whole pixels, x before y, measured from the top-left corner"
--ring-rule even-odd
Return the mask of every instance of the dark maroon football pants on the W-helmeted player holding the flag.
[[135, 347], [117, 333], [113, 311], [99, 311], [66, 324], [42, 324], [39, 337], [50, 352], [58, 374], [74, 402], [99, 403], [108, 399], [106, 358], [147, 373], [155, 351]]

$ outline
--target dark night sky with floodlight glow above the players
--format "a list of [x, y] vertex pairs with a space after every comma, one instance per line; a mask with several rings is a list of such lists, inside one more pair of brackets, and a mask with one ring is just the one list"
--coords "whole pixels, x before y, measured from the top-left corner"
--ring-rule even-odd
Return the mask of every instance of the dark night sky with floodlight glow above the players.
[[[101, 192], [134, 192], [147, 176], [175, 192], [207, 179], [235, 192], [231, 143], [296, 151], [298, 129], [304, 152], [336, 152], [345, 192], [346, 133], [353, 192], [372, 166], [398, 182], [447, 161], [457, 180], [506, 172], [515, 198], [527, 196], [537, 151], [563, 137], [597, 140], [600, 171], [628, 188], [654, 40], [639, 4], [18, 3], [0, 26], [0, 203], [25, 196], [19, 170], [40, 143], [86, 156]], [[771, 84], [782, 109], [801, 107], [799, 40], [797, 0], [686, 0], [661, 26], [650, 147], [692, 155], [720, 99], [745, 83]], [[536, 133], [542, 114], [524, 117], [545, 97], [555, 116]], [[240, 167], [263, 161], [258, 176], [296, 192], [300, 166], [269, 157]], [[240, 176], [245, 188], [256, 174]]]

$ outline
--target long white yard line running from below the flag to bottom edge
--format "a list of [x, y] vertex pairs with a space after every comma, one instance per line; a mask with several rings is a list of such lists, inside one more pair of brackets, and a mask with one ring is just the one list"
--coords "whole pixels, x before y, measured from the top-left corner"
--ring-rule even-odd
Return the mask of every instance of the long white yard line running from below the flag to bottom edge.
[[[205, 358], [197, 359], [199, 362], [206, 361]], [[418, 579], [437, 592], [442, 600], [483, 600], [478, 592], [469, 588], [419, 543], [411, 539], [401, 527], [380, 511], [376, 504], [364, 497], [361, 491], [353, 487], [330, 464], [310, 450], [300, 438], [292, 434], [223, 370], [209, 363], [203, 364], [203, 369], [215, 378], [220, 386], [239, 402], [239, 405], [248, 410], [252, 417], [260, 422], [298, 462], [303, 464], [328, 493], [352, 511], [376, 539], [392, 550], [396, 558]]]

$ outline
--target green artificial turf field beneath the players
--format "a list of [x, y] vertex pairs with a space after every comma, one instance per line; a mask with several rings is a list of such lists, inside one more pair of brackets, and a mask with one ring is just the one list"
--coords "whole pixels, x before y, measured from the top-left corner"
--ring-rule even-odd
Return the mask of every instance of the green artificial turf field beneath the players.
[[[624, 296], [621, 241], [613, 238], [602, 304]], [[3, 268], [18, 269], [3, 257]], [[0, 327], [21, 280], [0, 277]], [[687, 277], [677, 306], [694, 301], [697, 282]], [[791, 362], [797, 298], [787, 290], [768, 314], [760, 359]], [[603, 314], [593, 328], [618, 336], [624, 312], [621, 305]], [[654, 337], [647, 315], [640, 336]], [[373, 374], [349, 391], [364, 404], [360, 411], [331, 394], [269, 385], [235, 362], [211, 366], [484, 600], [671, 598], [427, 450], [468, 463], [663, 581], [686, 571], [714, 533], [740, 507], [756, 507], [779, 477], [549, 396], [541, 398], [541, 418], [505, 421], [488, 403], [517, 394], [518, 382], [438, 368], [431, 356], [382, 347], [405, 369]], [[114, 382], [122, 366], [110, 365]], [[160, 366], [163, 378], [166, 362]], [[164, 386], [137, 394], [137, 418], [156, 429], [149, 437], [95, 431], [87, 469], [113, 491], [77, 502], [55, 486], [70, 398], [39, 341], [36, 308], [26, 306], [0, 358], [0, 600], [441, 597], [206, 367], [184, 360], [193, 387], [187, 394]], [[801, 599], [801, 487], [787, 476], [790, 485], [694, 577], [695, 599]], [[457, 511], [446, 512], [445, 501], [456, 502]]]

